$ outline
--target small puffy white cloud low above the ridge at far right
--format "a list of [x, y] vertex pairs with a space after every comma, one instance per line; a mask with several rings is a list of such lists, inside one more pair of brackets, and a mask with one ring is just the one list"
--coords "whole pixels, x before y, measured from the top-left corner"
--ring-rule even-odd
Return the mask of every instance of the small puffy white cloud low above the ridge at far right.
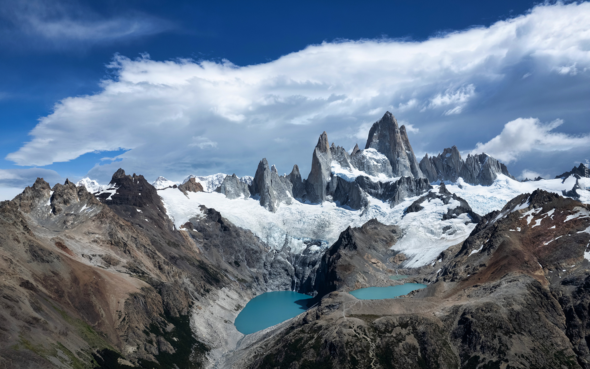
[[478, 142], [472, 154], [486, 152], [494, 158], [509, 163], [516, 161], [523, 153], [532, 150], [563, 151], [573, 148], [587, 148], [590, 135], [567, 135], [552, 132], [563, 124], [557, 119], [541, 123], [536, 118], [518, 118], [506, 123], [499, 135], [486, 143]]

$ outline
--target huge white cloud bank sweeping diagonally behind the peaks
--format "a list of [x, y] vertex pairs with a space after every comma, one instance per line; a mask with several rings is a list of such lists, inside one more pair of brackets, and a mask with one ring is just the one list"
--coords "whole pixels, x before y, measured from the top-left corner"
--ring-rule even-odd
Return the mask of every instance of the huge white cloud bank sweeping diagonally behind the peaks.
[[[555, 70], [563, 66], [577, 68], [568, 83], [579, 79], [576, 88], [590, 92], [582, 79], [590, 66], [585, 46], [589, 41], [590, 3], [582, 2], [536, 6], [487, 28], [421, 42], [310, 45], [245, 67], [227, 60], [154, 61], [148, 55], [135, 60], [116, 55], [109, 66], [114, 77], [103, 81], [100, 92], [58, 102], [30, 132], [31, 141], [6, 159], [42, 166], [87, 152], [129, 150], [117, 156], [122, 162], [95, 166], [96, 178], [107, 177], [104, 173], [119, 165], [152, 177], [182, 177], [199, 168], [205, 173], [252, 174], [265, 156], [274, 156], [285, 169], [299, 164], [304, 171], [323, 130], [330, 142], [340, 139], [337, 143], [348, 147], [357, 141], [363, 146], [371, 124], [385, 110], [419, 125], [424, 142], [442, 145], [437, 137], [441, 132], [462, 133], [471, 122], [497, 122], [489, 112], [471, 108], [493, 103], [490, 96], [512, 93], [503, 90], [507, 83], [525, 83], [520, 78], [523, 69], [515, 66], [526, 64], [535, 77], [526, 80], [531, 87], [519, 92], [516, 103], [510, 99], [514, 111], [547, 106], [530, 100], [539, 92], [530, 82], [560, 78]], [[555, 96], [551, 103], [571, 102], [561, 93], [565, 88], [543, 84], [543, 91]], [[580, 96], [584, 93], [575, 98], [583, 99]], [[523, 116], [518, 111], [512, 116]], [[461, 120], [467, 118], [468, 123]], [[482, 136], [470, 137], [469, 145], [483, 141]], [[290, 145], [268, 152], [268, 142], [277, 137], [289, 138]], [[495, 142], [486, 147], [496, 148]], [[420, 142], [412, 146], [424, 149]], [[503, 146], [499, 152], [506, 150]], [[97, 175], [100, 171], [103, 177]]]

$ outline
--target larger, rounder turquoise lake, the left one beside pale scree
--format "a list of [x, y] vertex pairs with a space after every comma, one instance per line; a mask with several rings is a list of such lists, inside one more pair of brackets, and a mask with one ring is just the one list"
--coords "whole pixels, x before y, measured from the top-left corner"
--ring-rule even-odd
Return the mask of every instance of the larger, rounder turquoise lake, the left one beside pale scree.
[[[403, 295], [403, 293], [402, 293]], [[265, 292], [248, 301], [235, 318], [235, 328], [243, 334], [258, 332], [307, 310], [312, 296], [293, 291]]]

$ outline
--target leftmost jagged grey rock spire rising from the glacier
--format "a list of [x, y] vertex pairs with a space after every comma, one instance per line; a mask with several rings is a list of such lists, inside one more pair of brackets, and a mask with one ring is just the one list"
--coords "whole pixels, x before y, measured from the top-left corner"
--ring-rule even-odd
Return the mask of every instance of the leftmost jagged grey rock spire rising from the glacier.
[[291, 204], [293, 184], [289, 178], [279, 176], [277, 169], [268, 168], [266, 158], [258, 163], [258, 169], [250, 186], [250, 193], [260, 195], [260, 205], [276, 213], [281, 203]]

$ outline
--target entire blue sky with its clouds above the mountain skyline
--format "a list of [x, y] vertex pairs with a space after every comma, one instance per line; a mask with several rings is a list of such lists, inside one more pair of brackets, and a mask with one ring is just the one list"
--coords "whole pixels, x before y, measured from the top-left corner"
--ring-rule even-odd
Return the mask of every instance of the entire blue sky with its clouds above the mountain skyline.
[[457, 145], [554, 176], [590, 156], [588, 5], [12, 2], [0, 200], [119, 166], [179, 180], [266, 157], [306, 177], [323, 130], [363, 146], [385, 110], [419, 156]]

